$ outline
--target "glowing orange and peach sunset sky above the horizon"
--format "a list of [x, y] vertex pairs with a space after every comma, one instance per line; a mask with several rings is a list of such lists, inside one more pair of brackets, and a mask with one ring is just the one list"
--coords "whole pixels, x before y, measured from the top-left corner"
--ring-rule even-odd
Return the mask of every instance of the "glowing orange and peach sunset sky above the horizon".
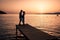
[[0, 10], [18, 13], [21, 9], [27, 13], [60, 12], [60, 0], [0, 0]]

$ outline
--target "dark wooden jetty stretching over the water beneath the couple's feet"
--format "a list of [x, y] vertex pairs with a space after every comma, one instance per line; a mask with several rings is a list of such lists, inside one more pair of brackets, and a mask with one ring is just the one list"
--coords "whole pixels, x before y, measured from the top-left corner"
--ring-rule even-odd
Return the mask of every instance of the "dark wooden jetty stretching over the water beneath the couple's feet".
[[53, 36], [38, 30], [29, 24], [16, 25], [16, 31], [17, 30], [19, 30], [27, 38], [27, 40], [48, 40], [54, 38]]

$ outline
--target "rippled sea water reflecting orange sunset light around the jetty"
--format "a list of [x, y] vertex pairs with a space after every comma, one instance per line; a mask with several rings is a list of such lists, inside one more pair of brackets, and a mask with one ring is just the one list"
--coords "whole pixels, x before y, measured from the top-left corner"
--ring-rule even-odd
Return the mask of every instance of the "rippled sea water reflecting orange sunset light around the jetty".
[[[16, 36], [19, 14], [0, 14], [0, 39]], [[25, 24], [29, 24], [49, 35], [60, 37], [60, 15], [26, 14]]]

